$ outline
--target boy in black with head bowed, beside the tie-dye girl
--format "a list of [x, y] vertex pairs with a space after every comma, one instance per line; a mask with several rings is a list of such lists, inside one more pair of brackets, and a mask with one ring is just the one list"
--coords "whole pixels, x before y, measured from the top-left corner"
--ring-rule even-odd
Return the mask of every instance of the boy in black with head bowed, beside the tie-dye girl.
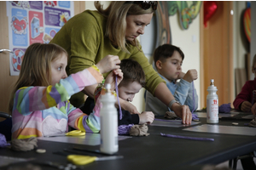
[[[122, 59], [120, 64], [120, 69], [123, 72], [123, 80], [119, 83], [118, 94], [119, 99], [124, 99], [131, 102], [141, 88], [145, 84], [145, 74], [142, 66], [133, 59]], [[116, 90], [116, 89], [115, 89]], [[98, 100], [99, 92], [102, 91], [102, 84], [100, 84], [95, 91], [95, 101]], [[85, 101], [85, 103], [87, 100]], [[93, 102], [93, 103], [92, 103]], [[90, 109], [94, 106], [94, 101], [89, 100], [87, 105], [90, 105]], [[118, 106], [117, 106], [118, 107]], [[135, 106], [134, 106], [135, 107]], [[88, 108], [87, 108], [88, 109]], [[136, 109], [136, 107], [135, 107]], [[141, 114], [131, 114], [129, 111], [121, 110], [118, 114], [122, 119], [119, 120], [120, 125], [129, 124], [144, 124], [152, 123], [154, 121], [154, 114], [151, 111], [143, 111]], [[87, 110], [90, 112], [90, 110]]]

